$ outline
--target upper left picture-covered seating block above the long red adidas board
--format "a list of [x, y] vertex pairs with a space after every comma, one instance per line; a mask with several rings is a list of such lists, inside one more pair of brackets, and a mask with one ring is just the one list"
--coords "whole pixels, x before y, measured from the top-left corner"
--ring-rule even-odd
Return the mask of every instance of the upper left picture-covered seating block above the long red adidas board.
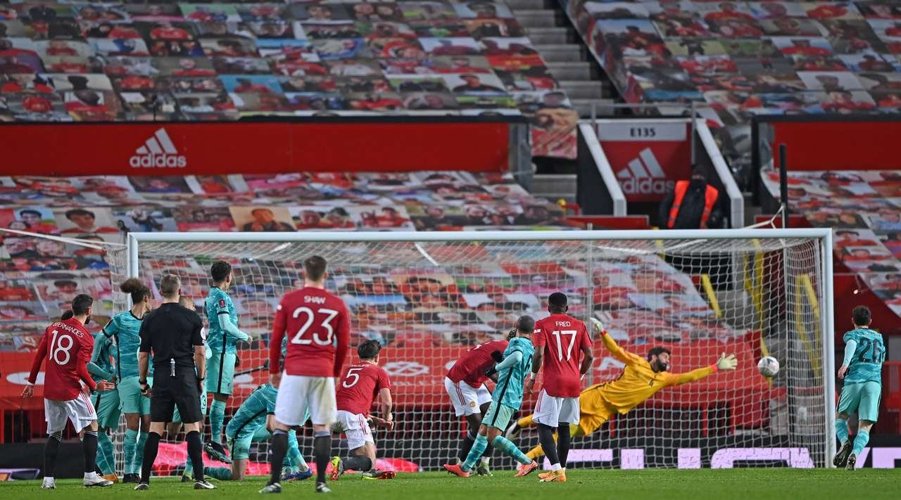
[[[251, 115], [532, 119], [575, 158], [569, 100], [502, 3], [23, 2], [0, 12], [0, 121]], [[552, 142], [549, 144], [549, 142]]]

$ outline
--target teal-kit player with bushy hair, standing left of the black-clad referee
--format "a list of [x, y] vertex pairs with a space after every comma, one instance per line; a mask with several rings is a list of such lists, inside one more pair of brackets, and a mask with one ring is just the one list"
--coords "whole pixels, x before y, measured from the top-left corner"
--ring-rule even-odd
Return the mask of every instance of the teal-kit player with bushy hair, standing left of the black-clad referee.
[[138, 348], [141, 347], [141, 321], [150, 312], [150, 288], [137, 278], [126, 279], [120, 289], [132, 296], [132, 309], [113, 316], [103, 333], [112, 341], [119, 402], [125, 414], [123, 442], [125, 473], [123, 483], [140, 481], [138, 471], [144, 458], [144, 443], [150, 429], [150, 398], [141, 395], [138, 384]]

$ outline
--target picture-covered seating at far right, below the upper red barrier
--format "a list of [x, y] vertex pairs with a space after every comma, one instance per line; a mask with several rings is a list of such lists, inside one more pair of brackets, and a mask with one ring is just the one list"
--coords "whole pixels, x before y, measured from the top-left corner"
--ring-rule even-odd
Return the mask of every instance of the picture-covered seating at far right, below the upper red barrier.
[[[778, 172], [761, 173], [773, 198]], [[901, 317], [901, 174], [896, 170], [789, 172], [789, 207], [835, 228], [835, 256]]]

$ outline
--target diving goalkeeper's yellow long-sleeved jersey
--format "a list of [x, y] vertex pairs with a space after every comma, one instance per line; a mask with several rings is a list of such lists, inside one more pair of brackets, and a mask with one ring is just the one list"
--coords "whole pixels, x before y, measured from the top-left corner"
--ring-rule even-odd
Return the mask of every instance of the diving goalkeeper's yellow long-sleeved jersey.
[[615, 380], [590, 386], [579, 396], [583, 414], [628, 413], [663, 387], [678, 386], [707, 377], [715, 367], [697, 368], [687, 373], [654, 372], [651, 363], [632, 352], [623, 350], [610, 335], [601, 335], [604, 346], [614, 358], [625, 363], [623, 373]]

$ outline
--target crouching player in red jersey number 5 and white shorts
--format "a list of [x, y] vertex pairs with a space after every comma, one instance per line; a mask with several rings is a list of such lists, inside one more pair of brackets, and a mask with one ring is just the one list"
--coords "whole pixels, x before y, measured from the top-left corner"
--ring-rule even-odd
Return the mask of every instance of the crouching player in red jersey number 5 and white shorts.
[[[338, 480], [345, 470], [352, 468], [364, 473], [369, 479], [391, 479], [393, 470], [376, 470], [376, 441], [372, 439], [369, 423], [386, 429], [394, 428], [391, 416], [391, 382], [387, 372], [378, 366], [378, 351], [382, 346], [378, 341], [359, 344], [359, 363], [350, 365], [341, 377], [338, 394], [338, 421], [334, 432], [347, 436], [350, 457], [332, 458], [332, 481]], [[381, 400], [381, 417], [369, 414], [376, 397]]]

